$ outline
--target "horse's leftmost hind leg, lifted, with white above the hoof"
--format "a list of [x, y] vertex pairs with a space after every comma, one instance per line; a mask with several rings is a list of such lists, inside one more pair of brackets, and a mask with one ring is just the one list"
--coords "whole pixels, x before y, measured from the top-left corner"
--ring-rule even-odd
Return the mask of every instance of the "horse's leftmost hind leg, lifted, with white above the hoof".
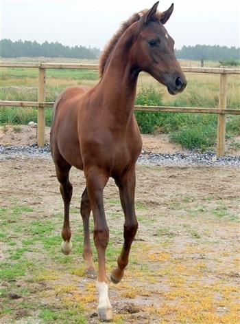
[[69, 208], [71, 197], [73, 195], [73, 186], [69, 181], [70, 169], [71, 165], [67, 162], [61, 164], [61, 166], [56, 165], [56, 175], [60, 182], [60, 192], [64, 202], [64, 222], [62, 227], [62, 252], [64, 255], [69, 255], [73, 247], [71, 244], [71, 228], [69, 222]]

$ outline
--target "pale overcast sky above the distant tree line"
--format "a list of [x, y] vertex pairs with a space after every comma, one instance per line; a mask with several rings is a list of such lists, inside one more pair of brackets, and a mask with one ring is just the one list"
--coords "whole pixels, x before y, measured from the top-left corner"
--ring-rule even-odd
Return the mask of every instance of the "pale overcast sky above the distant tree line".
[[[1, 39], [44, 41], [104, 49], [119, 25], [134, 12], [151, 8], [156, 0], [32, 0], [1, 1]], [[239, 0], [160, 0], [174, 11], [165, 25], [183, 45], [239, 47]]]

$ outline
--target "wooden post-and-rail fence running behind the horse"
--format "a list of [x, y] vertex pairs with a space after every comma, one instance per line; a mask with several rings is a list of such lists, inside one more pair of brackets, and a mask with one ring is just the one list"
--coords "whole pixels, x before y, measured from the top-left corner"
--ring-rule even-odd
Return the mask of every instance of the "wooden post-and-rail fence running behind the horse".
[[[97, 69], [95, 64], [71, 63], [1, 63], [0, 67], [32, 67], [38, 68], [38, 101], [4, 101], [0, 106], [38, 107], [38, 146], [45, 144], [45, 107], [53, 107], [54, 102], [45, 102], [46, 99], [46, 69]], [[164, 106], [135, 106], [136, 111], [167, 111], [197, 114], [218, 114], [217, 123], [217, 156], [224, 156], [226, 115], [240, 114], [240, 109], [226, 109], [227, 77], [228, 74], [240, 74], [240, 69], [182, 67], [183, 72], [211, 73], [220, 75], [219, 105], [218, 108], [193, 107], [164, 107]]]

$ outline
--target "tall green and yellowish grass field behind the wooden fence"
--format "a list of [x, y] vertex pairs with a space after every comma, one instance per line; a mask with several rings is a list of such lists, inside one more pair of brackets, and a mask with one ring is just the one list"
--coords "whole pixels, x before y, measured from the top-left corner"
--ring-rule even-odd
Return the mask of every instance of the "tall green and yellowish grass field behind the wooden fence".
[[[63, 59], [62, 59], [63, 60]], [[16, 61], [16, 60], [14, 60]], [[23, 60], [24, 61], [24, 60]], [[50, 60], [51, 61], [51, 60]], [[59, 60], [58, 60], [59, 61]], [[66, 60], [65, 60], [66, 61]], [[77, 63], [77, 60], [74, 60]], [[97, 63], [97, 62], [95, 62]], [[196, 65], [182, 62], [183, 65]], [[215, 66], [206, 62], [206, 65]], [[20, 67], [2, 68], [2, 100], [37, 101], [38, 69]], [[178, 96], [170, 96], [167, 89], [145, 73], [139, 76], [136, 105], [169, 105], [173, 107], [217, 107], [219, 97], [219, 75], [188, 73], [187, 89]], [[46, 101], [53, 102], [58, 94], [72, 85], [92, 86], [97, 83], [95, 70], [47, 69]], [[227, 108], [240, 109], [239, 76], [228, 76]], [[52, 109], [46, 109], [46, 125], [51, 126]], [[217, 115], [181, 114], [136, 111], [141, 133], [164, 132], [170, 134], [172, 142], [185, 149], [215, 149], [217, 140]], [[1, 107], [0, 125], [26, 125], [37, 122], [34, 107]], [[226, 124], [226, 137], [240, 134], [240, 116], [230, 116]]]

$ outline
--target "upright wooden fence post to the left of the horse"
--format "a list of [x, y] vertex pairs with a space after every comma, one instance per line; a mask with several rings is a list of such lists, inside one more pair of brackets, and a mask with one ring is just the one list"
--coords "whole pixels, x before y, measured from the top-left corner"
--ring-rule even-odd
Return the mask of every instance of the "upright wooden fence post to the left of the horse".
[[[38, 73], [38, 102], [46, 99], [46, 69], [39, 67]], [[45, 107], [38, 107], [38, 147], [45, 144]]]

